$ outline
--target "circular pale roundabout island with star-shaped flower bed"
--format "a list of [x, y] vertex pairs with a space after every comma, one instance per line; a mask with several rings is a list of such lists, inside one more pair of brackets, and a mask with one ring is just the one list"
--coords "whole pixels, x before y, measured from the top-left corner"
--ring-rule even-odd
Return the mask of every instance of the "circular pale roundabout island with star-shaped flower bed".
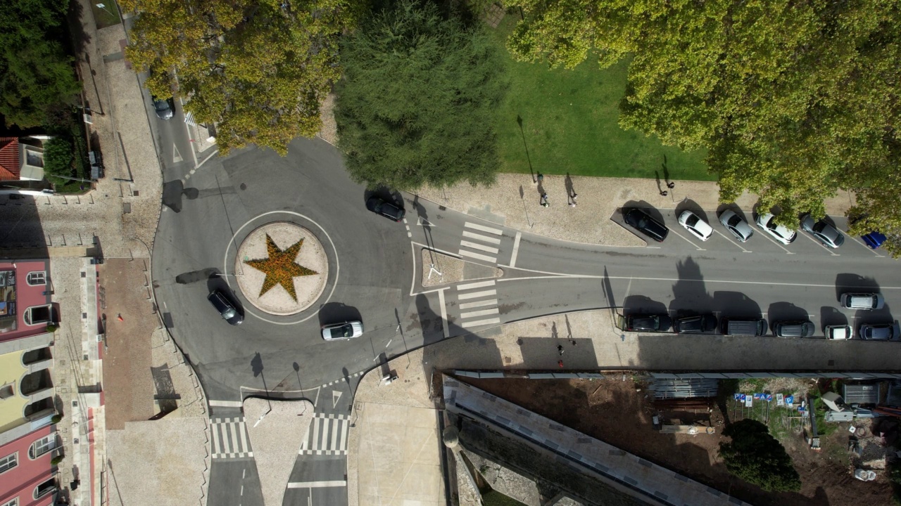
[[269, 314], [289, 315], [304, 311], [323, 294], [329, 262], [310, 230], [276, 221], [241, 242], [234, 272], [249, 303]]

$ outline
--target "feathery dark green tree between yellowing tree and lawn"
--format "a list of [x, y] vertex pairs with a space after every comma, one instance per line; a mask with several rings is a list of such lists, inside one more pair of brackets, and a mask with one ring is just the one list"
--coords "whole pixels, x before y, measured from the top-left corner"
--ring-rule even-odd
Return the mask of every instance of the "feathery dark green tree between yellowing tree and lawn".
[[415, 0], [350, 35], [335, 108], [350, 176], [405, 189], [493, 182], [500, 56], [480, 25]]

